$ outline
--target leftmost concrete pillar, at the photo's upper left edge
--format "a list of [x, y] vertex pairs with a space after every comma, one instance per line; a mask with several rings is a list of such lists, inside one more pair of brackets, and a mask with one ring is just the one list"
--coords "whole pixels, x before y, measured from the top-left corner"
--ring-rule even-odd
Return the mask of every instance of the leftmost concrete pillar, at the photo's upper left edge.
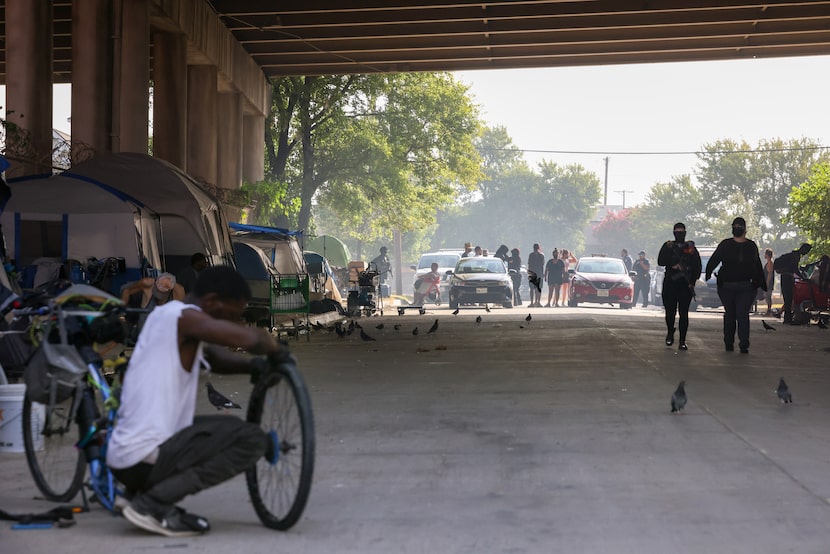
[[8, 177], [52, 168], [52, 3], [6, 0]]

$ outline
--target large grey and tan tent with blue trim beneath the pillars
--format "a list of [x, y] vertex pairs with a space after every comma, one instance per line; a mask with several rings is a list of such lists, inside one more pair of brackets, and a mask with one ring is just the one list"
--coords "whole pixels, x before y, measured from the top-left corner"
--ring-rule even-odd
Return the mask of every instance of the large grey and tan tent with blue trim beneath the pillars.
[[176, 273], [194, 252], [233, 265], [221, 206], [173, 165], [144, 154], [100, 155], [53, 176], [9, 183], [0, 222], [19, 269], [38, 258], [124, 258], [130, 279], [145, 267]]

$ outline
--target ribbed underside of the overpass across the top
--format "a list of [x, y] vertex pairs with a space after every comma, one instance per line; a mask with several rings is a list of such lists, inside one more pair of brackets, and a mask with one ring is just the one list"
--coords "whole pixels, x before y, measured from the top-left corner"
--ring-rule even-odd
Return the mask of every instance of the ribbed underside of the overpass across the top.
[[830, 54], [830, 1], [208, 3], [268, 76]]

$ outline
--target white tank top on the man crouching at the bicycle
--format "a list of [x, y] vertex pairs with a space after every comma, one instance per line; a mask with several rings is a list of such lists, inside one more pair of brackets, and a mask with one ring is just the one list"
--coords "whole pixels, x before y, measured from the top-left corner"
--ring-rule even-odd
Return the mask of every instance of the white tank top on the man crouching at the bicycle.
[[193, 424], [199, 369], [207, 366], [204, 343], [199, 343], [193, 367], [186, 371], [179, 354], [178, 325], [183, 310], [199, 309], [173, 300], [150, 312], [124, 377], [118, 420], [107, 449], [110, 467], [134, 466]]

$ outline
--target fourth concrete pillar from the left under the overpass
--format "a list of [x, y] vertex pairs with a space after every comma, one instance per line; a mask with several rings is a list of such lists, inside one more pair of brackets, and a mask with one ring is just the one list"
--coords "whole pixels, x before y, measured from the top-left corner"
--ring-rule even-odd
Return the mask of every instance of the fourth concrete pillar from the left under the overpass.
[[187, 170], [187, 42], [153, 35], [153, 156]]

